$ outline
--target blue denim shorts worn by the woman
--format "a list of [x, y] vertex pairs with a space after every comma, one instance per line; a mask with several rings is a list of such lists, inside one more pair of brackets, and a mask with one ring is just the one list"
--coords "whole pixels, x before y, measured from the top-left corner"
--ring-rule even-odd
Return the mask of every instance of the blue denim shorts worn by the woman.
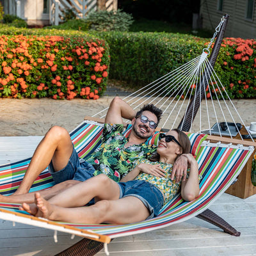
[[118, 185], [120, 188], [120, 198], [135, 196], [143, 202], [150, 212], [147, 220], [156, 217], [164, 205], [164, 196], [160, 189], [145, 180], [118, 182]]

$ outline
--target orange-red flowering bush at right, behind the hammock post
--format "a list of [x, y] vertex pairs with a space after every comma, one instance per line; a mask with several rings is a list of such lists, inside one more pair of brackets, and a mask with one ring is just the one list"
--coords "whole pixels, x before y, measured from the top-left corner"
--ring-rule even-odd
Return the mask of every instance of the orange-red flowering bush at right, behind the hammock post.
[[224, 38], [214, 70], [231, 99], [256, 97], [256, 40]]

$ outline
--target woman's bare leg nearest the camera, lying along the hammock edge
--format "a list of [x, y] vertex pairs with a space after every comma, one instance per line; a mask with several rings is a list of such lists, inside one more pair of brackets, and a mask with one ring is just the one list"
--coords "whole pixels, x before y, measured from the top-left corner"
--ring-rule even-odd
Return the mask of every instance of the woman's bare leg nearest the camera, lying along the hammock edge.
[[[35, 195], [36, 216], [72, 223], [127, 224], [143, 221], [149, 216], [140, 199], [127, 196], [118, 200], [101, 200], [89, 207], [66, 208], [50, 204], [39, 193]], [[25, 209], [29, 212], [29, 209]]]

